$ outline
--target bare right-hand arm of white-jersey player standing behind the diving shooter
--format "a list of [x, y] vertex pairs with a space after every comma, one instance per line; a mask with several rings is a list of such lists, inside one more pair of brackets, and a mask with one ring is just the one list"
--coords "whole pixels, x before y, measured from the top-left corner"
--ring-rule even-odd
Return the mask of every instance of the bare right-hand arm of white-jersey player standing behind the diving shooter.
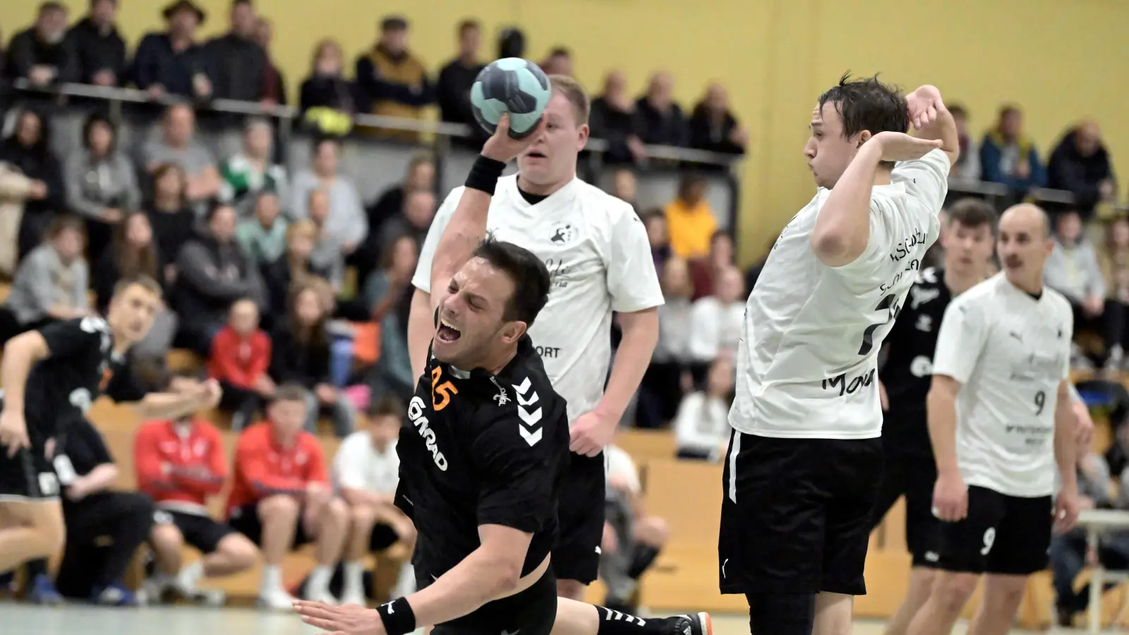
[[578, 417], [570, 429], [569, 450], [587, 456], [595, 456], [611, 443], [658, 343], [658, 308], [620, 313], [619, 322], [623, 339], [612, 362], [604, 397], [592, 412]]

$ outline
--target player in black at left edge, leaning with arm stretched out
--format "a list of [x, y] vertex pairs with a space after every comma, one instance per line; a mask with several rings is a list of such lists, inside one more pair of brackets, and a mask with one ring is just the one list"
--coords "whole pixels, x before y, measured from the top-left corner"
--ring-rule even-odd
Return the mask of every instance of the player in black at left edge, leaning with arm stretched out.
[[156, 281], [124, 279], [114, 289], [105, 319], [54, 322], [15, 337], [5, 347], [0, 364], [0, 572], [62, 548], [63, 517], [53, 460], [65, 456], [67, 426], [85, 417], [99, 394], [138, 401], [138, 414], [147, 419], [176, 418], [219, 402], [219, 385], [213, 381], [176, 394], [140, 394], [128, 377], [123, 381], [129, 375], [120, 373], [125, 371], [125, 354], [149, 331], [159, 304]]

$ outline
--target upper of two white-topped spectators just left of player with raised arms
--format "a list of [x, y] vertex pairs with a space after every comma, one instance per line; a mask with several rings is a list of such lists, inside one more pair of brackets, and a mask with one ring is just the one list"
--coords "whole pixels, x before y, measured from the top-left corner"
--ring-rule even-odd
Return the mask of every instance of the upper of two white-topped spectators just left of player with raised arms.
[[737, 351], [745, 316], [745, 277], [729, 266], [718, 272], [714, 295], [690, 310], [690, 357], [709, 365], [719, 355]]

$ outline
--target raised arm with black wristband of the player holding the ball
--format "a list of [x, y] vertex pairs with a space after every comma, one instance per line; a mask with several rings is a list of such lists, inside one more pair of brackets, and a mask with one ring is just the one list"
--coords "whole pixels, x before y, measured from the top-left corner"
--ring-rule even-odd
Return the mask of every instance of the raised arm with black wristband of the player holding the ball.
[[[540, 125], [543, 127], [544, 123]], [[535, 130], [522, 139], [514, 139], [509, 136], [509, 115], [504, 114], [498, 129], [487, 139], [482, 154], [466, 175], [466, 188], [431, 259], [432, 307], [439, 305], [450, 277], [471, 259], [474, 247], [485, 236], [490, 199], [506, 164], [514, 160], [539, 136], [540, 131]]]

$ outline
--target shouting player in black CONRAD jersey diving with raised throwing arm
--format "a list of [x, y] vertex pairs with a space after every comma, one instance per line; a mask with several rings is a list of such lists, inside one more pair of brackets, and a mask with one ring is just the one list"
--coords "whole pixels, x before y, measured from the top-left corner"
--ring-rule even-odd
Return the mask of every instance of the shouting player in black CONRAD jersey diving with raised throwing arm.
[[[435, 334], [396, 452], [395, 504], [415, 523], [419, 591], [366, 609], [299, 601], [349, 635], [710, 635], [709, 616], [638, 618], [558, 600], [549, 566], [569, 461], [564, 399], [526, 331], [549, 298], [545, 264], [485, 237], [506, 164], [537, 133], [487, 141], [431, 267]], [[438, 292], [438, 293], [437, 293]]]

